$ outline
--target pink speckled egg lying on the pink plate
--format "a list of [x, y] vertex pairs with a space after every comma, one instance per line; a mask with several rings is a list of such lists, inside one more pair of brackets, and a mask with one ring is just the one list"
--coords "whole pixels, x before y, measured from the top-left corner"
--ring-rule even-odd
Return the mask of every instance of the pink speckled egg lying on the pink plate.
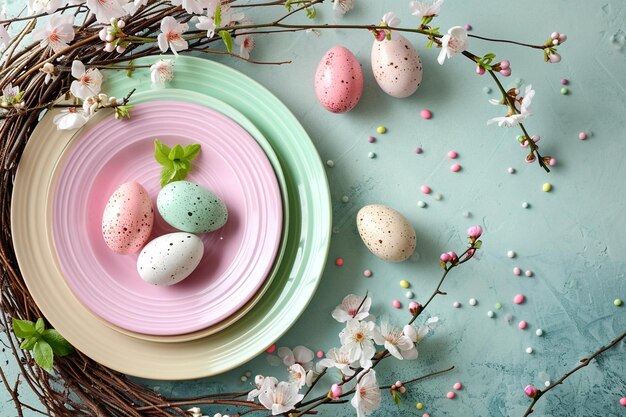
[[139, 252], [146, 244], [154, 208], [145, 188], [134, 181], [120, 185], [107, 201], [102, 215], [102, 236], [115, 253]]

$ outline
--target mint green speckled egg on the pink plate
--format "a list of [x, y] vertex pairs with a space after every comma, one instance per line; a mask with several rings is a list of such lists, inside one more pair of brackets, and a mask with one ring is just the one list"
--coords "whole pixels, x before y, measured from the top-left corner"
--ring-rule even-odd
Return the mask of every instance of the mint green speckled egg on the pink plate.
[[157, 208], [163, 220], [184, 232], [212, 232], [228, 220], [224, 202], [189, 181], [175, 181], [163, 187], [157, 197]]

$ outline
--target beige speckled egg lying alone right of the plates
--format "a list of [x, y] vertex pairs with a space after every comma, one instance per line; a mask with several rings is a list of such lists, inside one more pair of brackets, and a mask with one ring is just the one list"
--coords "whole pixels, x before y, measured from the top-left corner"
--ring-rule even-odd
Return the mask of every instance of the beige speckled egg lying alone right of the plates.
[[390, 207], [363, 207], [356, 215], [356, 226], [365, 246], [384, 261], [404, 261], [415, 251], [415, 229]]

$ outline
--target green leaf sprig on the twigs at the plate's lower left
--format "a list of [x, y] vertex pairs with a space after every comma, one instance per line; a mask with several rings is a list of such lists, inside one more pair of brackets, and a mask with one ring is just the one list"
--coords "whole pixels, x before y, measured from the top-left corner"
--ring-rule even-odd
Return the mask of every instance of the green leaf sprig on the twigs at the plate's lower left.
[[54, 355], [67, 356], [74, 348], [54, 329], [46, 329], [42, 318], [35, 323], [13, 318], [13, 333], [20, 339], [20, 349], [32, 350], [35, 362], [47, 372], [52, 371]]

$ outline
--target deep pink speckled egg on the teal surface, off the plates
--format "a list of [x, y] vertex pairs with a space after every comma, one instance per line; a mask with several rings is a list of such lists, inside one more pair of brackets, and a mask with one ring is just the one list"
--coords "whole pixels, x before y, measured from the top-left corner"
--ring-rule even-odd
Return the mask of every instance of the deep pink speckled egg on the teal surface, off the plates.
[[315, 95], [327, 110], [352, 110], [363, 93], [363, 71], [352, 52], [335, 46], [326, 52], [315, 72]]

